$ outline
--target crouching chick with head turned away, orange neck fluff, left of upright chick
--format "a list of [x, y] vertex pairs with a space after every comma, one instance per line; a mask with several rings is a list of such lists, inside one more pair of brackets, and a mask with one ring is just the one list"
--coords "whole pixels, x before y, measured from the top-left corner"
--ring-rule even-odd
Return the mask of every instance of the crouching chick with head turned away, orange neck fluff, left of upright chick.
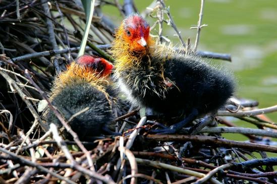
[[[112, 69], [113, 65], [103, 58], [83, 55], [54, 80], [50, 100], [66, 120], [89, 107], [68, 122], [81, 140], [99, 136], [104, 125], [115, 119], [116, 91], [109, 82]], [[48, 124], [53, 122], [62, 128], [60, 120], [50, 109], [45, 111], [44, 117]], [[72, 139], [66, 130], [62, 135]]]

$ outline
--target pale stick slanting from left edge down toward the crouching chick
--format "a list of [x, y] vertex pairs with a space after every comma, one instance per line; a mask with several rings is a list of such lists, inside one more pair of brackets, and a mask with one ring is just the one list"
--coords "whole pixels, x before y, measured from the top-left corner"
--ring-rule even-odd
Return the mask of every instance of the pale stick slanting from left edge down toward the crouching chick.
[[32, 115], [34, 116], [34, 118], [37, 118], [39, 125], [42, 127], [42, 129], [44, 131], [47, 130], [46, 126], [43, 124], [40, 116], [38, 115], [37, 111], [35, 110], [35, 108], [33, 107], [33, 105], [31, 104], [31, 102], [29, 100], [26, 100], [26, 95], [22, 92], [22, 90], [18, 87], [18, 85], [16, 84], [16, 82], [4, 71], [0, 70], [0, 75], [2, 75], [9, 84], [11, 84], [15, 90], [17, 91], [17, 93], [19, 94], [19, 96], [21, 97], [21, 99], [26, 103], [27, 107], [29, 108], [30, 112], [32, 113]]

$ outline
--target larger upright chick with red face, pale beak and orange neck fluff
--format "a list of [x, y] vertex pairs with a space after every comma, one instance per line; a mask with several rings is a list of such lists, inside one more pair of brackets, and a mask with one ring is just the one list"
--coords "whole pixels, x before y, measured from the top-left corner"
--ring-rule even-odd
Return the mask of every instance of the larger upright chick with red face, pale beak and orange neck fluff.
[[165, 117], [186, 116], [177, 124], [156, 131], [175, 133], [198, 115], [223, 106], [234, 93], [234, 80], [200, 57], [185, 56], [168, 45], [156, 45], [149, 29], [137, 14], [123, 20], [112, 48], [115, 76], [133, 104], [152, 108]]

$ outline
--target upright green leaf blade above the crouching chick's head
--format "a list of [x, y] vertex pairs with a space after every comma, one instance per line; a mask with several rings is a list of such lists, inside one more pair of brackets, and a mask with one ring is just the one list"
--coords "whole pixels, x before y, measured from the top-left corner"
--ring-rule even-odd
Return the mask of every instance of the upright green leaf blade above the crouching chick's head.
[[90, 25], [91, 25], [92, 16], [93, 16], [95, 0], [82, 0], [82, 4], [86, 14], [86, 27], [85, 27], [85, 32], [83, 35], [81, 48], [79, 50], [78, 56], [84, 55], [85, 53], [85, 47], [86, 47], [87, 37], [88, 37]]

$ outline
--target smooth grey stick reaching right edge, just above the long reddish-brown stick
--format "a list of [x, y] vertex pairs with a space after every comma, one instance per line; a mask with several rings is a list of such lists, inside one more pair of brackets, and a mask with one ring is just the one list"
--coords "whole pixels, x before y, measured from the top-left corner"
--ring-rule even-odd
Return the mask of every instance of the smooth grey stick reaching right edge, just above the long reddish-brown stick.
[[240, 127], [210, 127], [202, 129], [200, 133], [236, 133], [277, 138], [277, 134], [275, 132]]

